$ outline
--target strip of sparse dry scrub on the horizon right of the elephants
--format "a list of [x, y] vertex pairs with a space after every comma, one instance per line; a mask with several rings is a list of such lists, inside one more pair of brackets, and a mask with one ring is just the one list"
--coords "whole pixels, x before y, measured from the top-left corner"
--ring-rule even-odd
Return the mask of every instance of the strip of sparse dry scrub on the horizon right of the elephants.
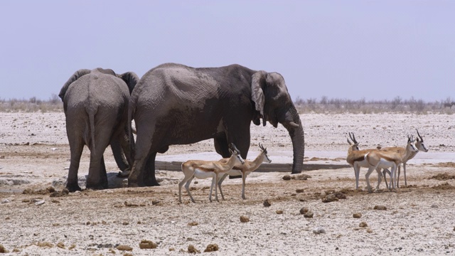
[[[452, 105], [453, 104], [453, 105]], [[360, 100], [348, 99], [329, 99], [322, 96], [321, 100], [309, 98], [306, 100], [297, 97], [294, 105], [299, 114], [305, 113], [352, 113], [352, 114], [373, 114], [373, 113], [439, 113], [454, 114], [455, 101], [448, 97], [446, 100], [425, 102], [422, 99], [416, 100], [411, 97], [409, 100], [403, 100], [400, 96], [392, 100], [370, 100], [365, 98]]]

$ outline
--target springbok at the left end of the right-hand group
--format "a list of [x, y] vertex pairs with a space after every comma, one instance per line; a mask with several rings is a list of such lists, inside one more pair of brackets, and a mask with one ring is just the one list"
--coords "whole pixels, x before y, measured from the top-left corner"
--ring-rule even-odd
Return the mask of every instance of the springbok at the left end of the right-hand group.
[[[354, 175], [355, 175], [355, 189], [358, 189], [358, 180], [359, 180], [359, 175], [360, 175], [360, 167], [365, 167], [369, 168], [370, 165], [368, 164], [368, 161], [366, 159], [366, 156], [370, 153], [370, 151], [377, 150], [377, 149], [363, 149], [360, 150], [358, 147], [358, 142], [355, 139], [354, 133], [349, 132], [349, 137], [352, 142], [350, 142], [349, 139], [349, 149], [348, 149], [348, 156], [346, 157], [346, 161], [350, 166], [354, 167]], [[378, 185], [376, 186], [376, 190], [379, 190], [379, 185], [382, 181], [382, 174], [380, 169], [376, 170], [378, 172]], [[368, 183], [369, 184], [369, 183]], [[370, 186], [368, 185], [368, 189], [370, 190]]]

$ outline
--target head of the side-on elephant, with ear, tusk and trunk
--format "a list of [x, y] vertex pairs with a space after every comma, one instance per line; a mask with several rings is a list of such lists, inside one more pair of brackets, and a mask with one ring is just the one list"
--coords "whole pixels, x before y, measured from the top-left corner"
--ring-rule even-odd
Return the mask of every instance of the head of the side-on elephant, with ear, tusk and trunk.
[[253, 115], [253, 122], [255, 116], [259, 116], [264, 126], [268, 121], [274, 127], [280, 123], [287, 129], [294, 150], [292, 173], [300, 173], [304, 160], [304, 129], [284, 78], [279, 73], [258, 71], [252, 75], [251, 92], [257, 111]]

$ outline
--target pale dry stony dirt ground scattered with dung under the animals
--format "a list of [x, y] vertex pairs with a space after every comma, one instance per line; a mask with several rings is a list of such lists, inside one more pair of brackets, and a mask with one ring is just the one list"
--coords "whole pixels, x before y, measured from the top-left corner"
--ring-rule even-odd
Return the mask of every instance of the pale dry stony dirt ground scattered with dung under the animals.
[[[218, 251], [207, 252], [213, 255], [455, 255], [452, 115], [304, 114], [304, 163], [326, 168], [289, 181], [279, 169], [253, 173], [246, 200], [240, 197], [241, 180], [227, 179], [226, 200], [220, 203], [208, 201], [210, 181], [196, 180], [191, 184], [196, 203], [183, 193], [182, 204], [181, 172], [157, 171], [159, 187], [124, 188], [109, 149], [105, 159], [114, 188], [59, 193], [69, 166], [64, 114], [0, 113], [0, 119], [0, 244], [11, 255], [188, 255], [190, 245], [203, 252], [209, 244], [218, 245]], [[407, 187], [402, 176], [396, 191], [381, 183], [380, 191], [367, 193], [363, 170], [361, 189], [355, 191], [352, 168], [331, 169], [346, 164], [348, 132], [366, 149], [404, 146], [415, 128], [429, 152], [408, 163]], [[267, 146], [272, 162], [291, 162], [291, 140], [283, 127], [252, 126], [249, 159], [258, 142]], [[208, 140], [171, 146], [157, 160], [218, 159], [212, 152]], [[85, 149], [81, 185], [88, 162]], [[370, 177], [373, 186], [377, 177]], [[56, 193], [46, 191], [50, 186]], [[323, 203], [331, 193], [340, 199]], [[264, 206], [266, 199], [271, 206]], [[302, 208], [313, 217], [305, 218]], [[241, 216], [249, 222], [242, 223]], [[141, 240], [155, 242], [156, 249], [141, 249]]]

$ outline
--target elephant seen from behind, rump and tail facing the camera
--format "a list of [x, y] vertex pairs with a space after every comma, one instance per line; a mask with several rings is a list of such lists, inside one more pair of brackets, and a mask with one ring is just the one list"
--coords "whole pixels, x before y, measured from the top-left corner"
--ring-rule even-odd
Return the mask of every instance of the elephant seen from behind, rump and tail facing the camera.
[[117, 75], [112, 70], [96, 68], [77, 70], [60, 90], [66, 117], [71, 161], [68, 171], [69, 191], [80, 191], [77, 171], [84, 145], [90, 149], [87, 188], [107, 188], [103, 153], [110, 144], [120, 169], [127, 169], [129, 137], [127, 119], [129, 95], [139, 77], [132, 72]]

